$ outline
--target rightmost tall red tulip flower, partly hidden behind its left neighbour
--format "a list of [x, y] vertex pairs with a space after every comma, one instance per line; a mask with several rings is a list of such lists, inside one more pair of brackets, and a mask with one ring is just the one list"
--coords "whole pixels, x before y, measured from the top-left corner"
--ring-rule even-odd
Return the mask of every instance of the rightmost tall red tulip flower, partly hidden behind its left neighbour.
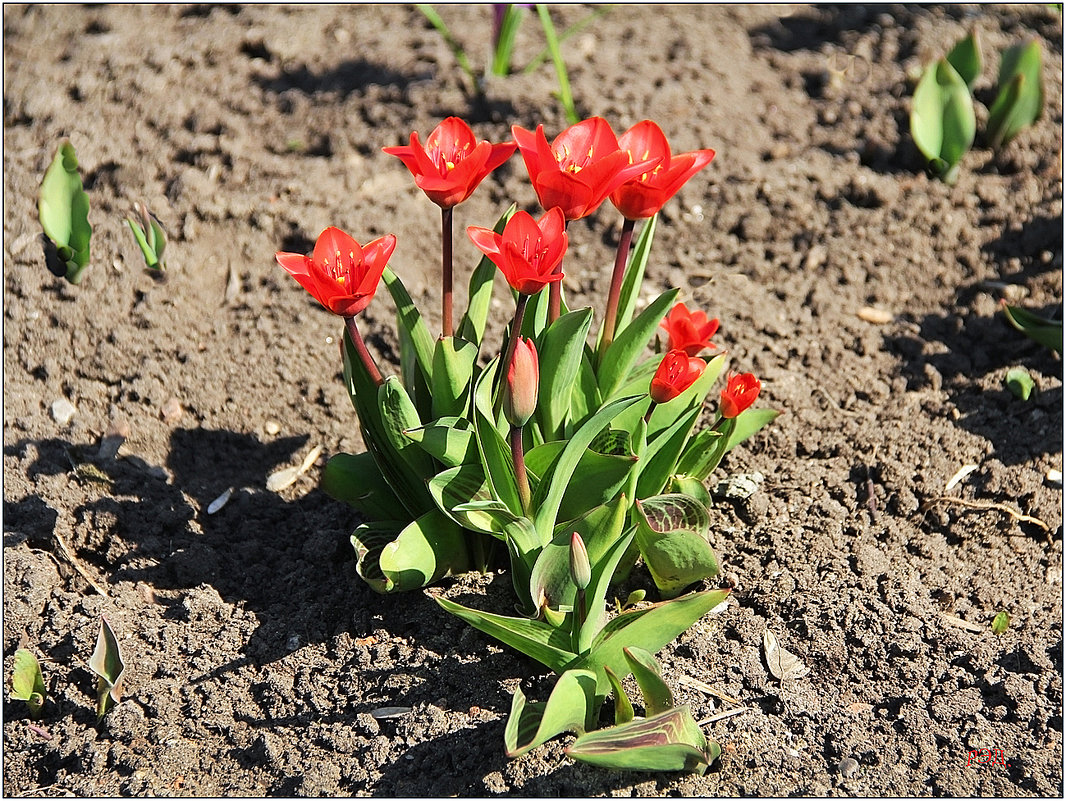
[[631, 161], [652, 159], [659, 162], [652, 170], [629, 178], [611, 193], [611, 203], [627, 220], [655, 215], [689, 178], [714, 158], [714, 150], [710, 149], [672, 155], [666, 137], [650, 119], [637, 123], [623, 133], [618, 146], [629, 154]]

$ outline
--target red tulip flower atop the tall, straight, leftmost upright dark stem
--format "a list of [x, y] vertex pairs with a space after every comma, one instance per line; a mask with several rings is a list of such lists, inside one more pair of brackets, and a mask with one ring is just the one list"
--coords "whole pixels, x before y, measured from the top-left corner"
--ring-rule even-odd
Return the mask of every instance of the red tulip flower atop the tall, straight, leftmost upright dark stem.
[[431, 201], [450, 209], [473, 194], [489, 173], [511, 158], [515, 146], [514, 142], [478, 142], [469, 125], [448, 117], [433, 129], [425, 147], [414, 131], [409, 145], [383, 149], [403, 161]]

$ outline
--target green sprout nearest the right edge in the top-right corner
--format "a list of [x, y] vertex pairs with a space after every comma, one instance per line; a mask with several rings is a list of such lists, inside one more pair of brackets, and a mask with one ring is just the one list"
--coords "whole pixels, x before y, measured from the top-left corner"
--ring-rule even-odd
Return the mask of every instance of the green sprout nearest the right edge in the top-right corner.
[[1044, 77], [1040, 44], [1015, 45], [1000, 57], [998, 94], [988, 110], [985, 140], [996, 150], [1003, 149], [1044, 111]]

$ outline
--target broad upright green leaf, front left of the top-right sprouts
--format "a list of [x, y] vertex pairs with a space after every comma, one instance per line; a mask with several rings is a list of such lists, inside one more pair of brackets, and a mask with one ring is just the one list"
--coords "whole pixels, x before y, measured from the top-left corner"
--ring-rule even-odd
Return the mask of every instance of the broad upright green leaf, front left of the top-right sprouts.
[[978, 121], [970, 91], [955, 67], [931, 64], [915, 89], [910, 135], [937, 177], [954, 183], [963, 155], [973, 144]]

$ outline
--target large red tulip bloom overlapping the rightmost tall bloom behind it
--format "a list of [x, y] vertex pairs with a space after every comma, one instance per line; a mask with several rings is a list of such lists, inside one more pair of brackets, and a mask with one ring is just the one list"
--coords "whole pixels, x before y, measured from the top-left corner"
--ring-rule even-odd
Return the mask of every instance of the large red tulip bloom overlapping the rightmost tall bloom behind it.
[[632, 163], [602, 117], [570, 126], [550, 145], [543, 125], [535, 133], [517, 125], [511, 132], [540, 205], [546, 209], [559, 207], [567, 220], [593, 213], [624, 182], [659, 163], [658, 157]]

